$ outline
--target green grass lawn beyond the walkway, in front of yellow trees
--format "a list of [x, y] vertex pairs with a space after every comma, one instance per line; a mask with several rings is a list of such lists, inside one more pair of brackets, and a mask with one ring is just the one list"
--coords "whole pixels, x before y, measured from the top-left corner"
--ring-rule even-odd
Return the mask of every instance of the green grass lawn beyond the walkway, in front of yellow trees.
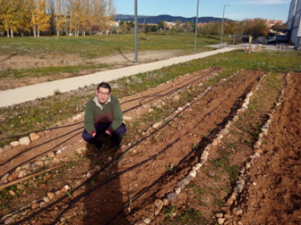
[[[194, 34], [150, 34], [149, 40], [144, 33], [138, 34], [138, 47], [144, 50], [179, 49], [193, 53]], [[219, 37], [199, 37], [198, 51], [202, 46], [218, 44]], [[93, 35], [85, 37], [0, 37], [0, 55], [21, 54], [75, 54], [84, 59], [134, 51], [134, 35]], [[41, 56], [42, 57], [42, 56]]]

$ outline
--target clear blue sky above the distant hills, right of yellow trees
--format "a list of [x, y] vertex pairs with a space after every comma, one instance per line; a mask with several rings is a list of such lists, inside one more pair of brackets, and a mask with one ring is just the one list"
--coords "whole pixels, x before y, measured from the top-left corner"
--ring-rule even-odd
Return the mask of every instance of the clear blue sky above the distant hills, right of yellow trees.
[[[195, 17], [198, 0], [137, 0], [138, 15]], [[134, 15], [134, 0], [115, 0], [116, 14]], [[199, 0], [199, 17], [223, 17], [234, 21], [262, 18], [288, 21], [291, 0]]]

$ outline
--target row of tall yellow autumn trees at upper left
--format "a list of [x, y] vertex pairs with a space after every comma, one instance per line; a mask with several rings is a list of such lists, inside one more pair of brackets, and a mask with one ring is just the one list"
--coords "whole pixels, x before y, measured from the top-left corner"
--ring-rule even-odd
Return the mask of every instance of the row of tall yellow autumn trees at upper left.
[[41, 31], [57, 36], [108, 33], [115, 13], [113, 0], [0, 0], [0, 29], [7, 37], [39, 37]]

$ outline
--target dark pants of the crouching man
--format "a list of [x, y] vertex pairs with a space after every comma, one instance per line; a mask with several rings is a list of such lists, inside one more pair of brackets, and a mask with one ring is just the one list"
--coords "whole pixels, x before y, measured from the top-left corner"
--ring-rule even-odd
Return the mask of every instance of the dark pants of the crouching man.
[[[90, 144], [97, 144], [100, 138], [108, 137], [106, 134], [106, 130], [110, 126], [111, 123], [99, 123], [99, 124], [94, 124], [94, 128], [96, 130], [96, 136], [92, 137], [90, 133], [86, 129], [83, 130], [82, 133], [82, 138], [89, 142]], [[120, 146], [120, 143], [122, 141], [122, 138], [124, 137], [126, 132], [125, 128], [125, 123], [122, 123], [118, 129], [116, 129], [111, 136], [111, 141], [112, 141], [112, 147], [118, 147]]]

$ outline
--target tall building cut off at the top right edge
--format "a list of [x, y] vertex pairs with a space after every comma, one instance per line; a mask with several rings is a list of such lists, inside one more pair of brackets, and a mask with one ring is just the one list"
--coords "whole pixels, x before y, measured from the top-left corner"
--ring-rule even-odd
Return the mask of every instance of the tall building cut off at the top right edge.
[[301, 0], [292, 0], [289, 6], [287, 29], [291, 31], [290, 41], [296, 47], [301, 46]]

